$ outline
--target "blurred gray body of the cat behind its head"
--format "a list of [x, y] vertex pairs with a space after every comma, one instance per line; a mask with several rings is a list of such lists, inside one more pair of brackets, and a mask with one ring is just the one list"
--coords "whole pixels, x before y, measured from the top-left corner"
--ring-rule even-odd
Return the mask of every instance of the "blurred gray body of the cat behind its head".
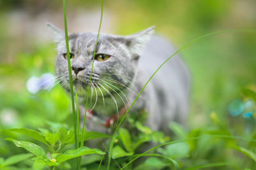
[[[175, 50], [163, 38], [152, 36], [143, 49], [138, 64], [138, 80], [144, 85], [148, 78]], [[145, 108], [150, 113], [147, 125], [154, 130], [168, 131], [170, 121], [185, 123], [188, 109], [189, 74], [175, 55], [154, 75], [142, 97], [148, 99]], [[141, 101], [142, 102], [142, 101]]]

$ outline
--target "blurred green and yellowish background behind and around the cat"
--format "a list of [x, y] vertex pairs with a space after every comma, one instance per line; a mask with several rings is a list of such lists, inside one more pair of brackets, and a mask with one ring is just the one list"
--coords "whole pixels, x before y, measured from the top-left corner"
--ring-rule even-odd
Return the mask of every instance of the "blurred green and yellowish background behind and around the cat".
[[[63, 29], [62, 1], [0, 0], [0, 9], [0, 128], [36, 129], [47, 127], [47, 121], [72, 124], [70, 99], [58, 85], [36, 94], [26, 87], [31, 76], [54, 74], [55, 45], [45, 22]], [[180, 48], [210, 32], [255, 29], [255, 11], [254, 0], [104, 1], [102, 32], [125, 35], [156, 25], [157, 34]], [[69, 32], [97, 32], [99, 19], [100, 1], [67, 1]], [[254, 125], [253, 117], [230, 117], [228, 106], [234, 99], [245, 100], [244, 88], [256, 90], [255, 33], [214, 35], [180, 55], [192, 81], [188, 128], [210, 125], [212, 111], [227, 125], [236, 122], [232, 127], [241, 134], [246, 124]], [[0, 141], [0, 155], [19, 152], [6, 146]]]

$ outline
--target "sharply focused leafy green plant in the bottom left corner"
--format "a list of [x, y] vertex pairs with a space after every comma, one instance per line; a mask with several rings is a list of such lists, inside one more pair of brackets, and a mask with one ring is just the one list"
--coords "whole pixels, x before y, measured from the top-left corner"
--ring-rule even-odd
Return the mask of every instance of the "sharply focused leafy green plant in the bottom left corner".
[[[8, 141], [12, 141], [17, 147], [21, 147], [26, 149], [28, 152], [33, 153], [35, 156], [33, 158], [34, 169], [42, 169], [45, 166], [52, 167], [52, 166], [62, 166], [62, 162], [65, 162], [70, 159], [74, 159], [77, 157], [81, 157], [82, 155], [91, 155], [91, 154], [98, 154], [104, 155], [105, 153], [97, 148], [88, 148], [88, 147], [81, 147], [77, 149], [70, 149], [68, 148], [69, 145], [74, 145], [74, 131], [67, 131], [62, 127], [56, 133], [52, 133], [44, 129], [44, 132], [33, 131], [31, 129], [8, 129], [8, 132], [17, 132], [20, 134], [24, 134], [29, 136], [30, 138], [36, 139], [40, 141], [46, 148], [42, 148], [35, 143], [31, 143], [28, 141], [19, 141], [12, 138], [6, 138]], [[100, 132], [86, 132], [86, 140], [96, 139], [96, 138], [109, 138], [108, 135], [102, 134]], [[31, 157], [31, 154], [24, 155], [26, 159]], [[10, 157], [6, 161], [2, 161], [2, 166], [8, 166], [10, 164], [15, 164], [15, 159], [17, 162], [22, 160], [21, 155], [18, 157]], [[67, 163], [68, 164], [68, 163]]]

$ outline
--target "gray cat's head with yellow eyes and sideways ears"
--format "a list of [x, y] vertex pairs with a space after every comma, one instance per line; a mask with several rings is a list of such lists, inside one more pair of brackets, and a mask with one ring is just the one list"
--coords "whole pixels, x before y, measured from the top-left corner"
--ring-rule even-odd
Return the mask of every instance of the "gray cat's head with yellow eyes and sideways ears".
[[[52, 24], [47, 25], [57, 45], [56, 76], [61, 85], [68, 90], [69, 78], [65, 33]], [[111, 90], [111, 85], [128, 87], [136, 74], [136, 67], [143, 45], [147, 43], [153, 33], [154, 26], [129, 36], [101, 33], [95, 50], [94, 64], [93, 52], [97, 33], [68, 34], [74, 90], [80, 95], [87, 93], [92, 64], [92, 88]]]

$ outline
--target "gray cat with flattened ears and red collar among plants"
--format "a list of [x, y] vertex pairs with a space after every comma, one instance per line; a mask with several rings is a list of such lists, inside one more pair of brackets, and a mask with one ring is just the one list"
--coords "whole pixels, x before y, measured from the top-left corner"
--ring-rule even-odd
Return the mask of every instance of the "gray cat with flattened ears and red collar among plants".
[[[56, 26], [47, 25], [57, 44], [56, 76], [70, 92], [65, 34]], [[99, 35], [88, 104], [88, 110], [92, 111], [87, 113], [86, 129], [107, 132], [109, 125], [118, 121], [129, 108], [157, 67], [174, 52], [167, 41], [152, 34], [154, 27], [130, 36]], [[82, 106], [88, 95], [96, 38], [97, 33], [92, 32], [68, 35], [74, 91]], [[184, 124], [188, 94], [188, 69], [175, 56], [150, 80], [131, 111], [145, 109], [149, 113], [146, 124], [152, 130], [168, 132], [170, 121]]]

